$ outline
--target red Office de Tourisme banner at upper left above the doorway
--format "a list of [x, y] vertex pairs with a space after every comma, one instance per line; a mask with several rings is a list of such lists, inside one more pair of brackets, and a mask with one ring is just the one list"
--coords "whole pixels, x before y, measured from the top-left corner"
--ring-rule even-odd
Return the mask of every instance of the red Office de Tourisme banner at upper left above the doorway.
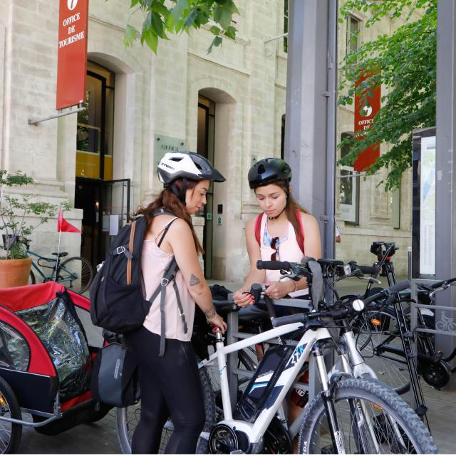
[[86, 100], [88, 0], [60, 0], [56, 109]]

